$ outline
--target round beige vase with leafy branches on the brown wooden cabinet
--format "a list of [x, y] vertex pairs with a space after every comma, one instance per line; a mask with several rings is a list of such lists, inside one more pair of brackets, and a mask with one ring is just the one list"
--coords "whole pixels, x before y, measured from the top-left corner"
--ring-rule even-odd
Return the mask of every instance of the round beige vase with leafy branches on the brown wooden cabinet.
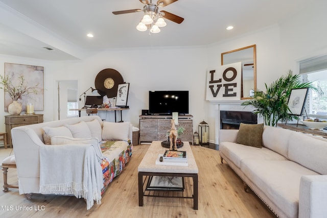
[[21, 103], [18, 102], [19, 99], [21, 99], [23, 96], [28, 95], [29, 93], [35, 93], [37, 94], [38, 90], [40, 89], [38, 87], [39, 84], [36, 84], [35, 86], [28, 87], [25, 85], [25, 79], [24, 76], [20, 75], [18, 77], [18, 85], [12, 84], [12, 75], [8, 77], [4, 77], [0, 75], [0, 84], [3, 85], [3, 87], [0, 87], [1, 89], [4, 89], [5, 92], [7, 92], [12, 99], [12, 103], [8, 106], [8, 112], [10, 115], [19, 115], [21, 112]]

